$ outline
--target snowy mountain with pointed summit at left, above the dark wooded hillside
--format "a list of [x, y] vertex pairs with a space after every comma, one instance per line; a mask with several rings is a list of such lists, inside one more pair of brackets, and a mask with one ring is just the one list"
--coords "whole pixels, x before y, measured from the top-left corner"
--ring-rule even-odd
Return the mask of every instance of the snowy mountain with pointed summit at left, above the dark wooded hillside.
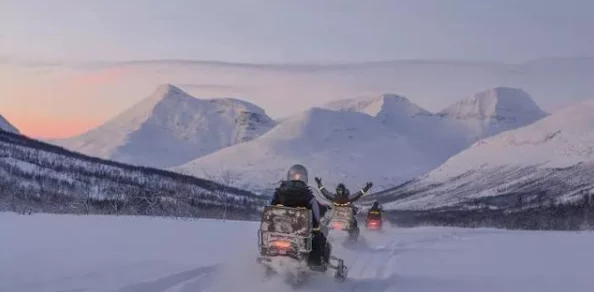
[[263, 109], [251, 103], [197, 99], [173, 85], [163, 85], [106, 124], [52, 142], [100, 158], [171, 167], [250, 141], [274, 124]]

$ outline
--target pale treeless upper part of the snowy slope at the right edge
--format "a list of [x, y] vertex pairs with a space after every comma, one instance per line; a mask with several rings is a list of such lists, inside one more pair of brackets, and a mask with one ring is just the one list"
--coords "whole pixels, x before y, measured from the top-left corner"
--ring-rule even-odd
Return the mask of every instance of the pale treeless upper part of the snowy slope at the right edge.
[[438, 173], [456, 175], [463, 168], [485, 163], [567, 167], [590, 162], [594, 159], [593, 112], [594, 99], [555, 112], [532, 125], [485, 139], [451, 158]]

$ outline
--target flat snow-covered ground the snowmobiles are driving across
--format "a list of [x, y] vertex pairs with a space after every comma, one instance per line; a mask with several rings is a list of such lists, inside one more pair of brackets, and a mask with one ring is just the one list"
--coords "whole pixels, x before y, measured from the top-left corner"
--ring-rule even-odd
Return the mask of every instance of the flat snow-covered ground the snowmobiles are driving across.
[[[210, 220], [0, 213], [2, 292], [290, 291], [263, 281], [257, 224]], [[302, 291], [521, 291], [594, 289], [594, 233], [389, 228], [348, 246], [338, 283]]]

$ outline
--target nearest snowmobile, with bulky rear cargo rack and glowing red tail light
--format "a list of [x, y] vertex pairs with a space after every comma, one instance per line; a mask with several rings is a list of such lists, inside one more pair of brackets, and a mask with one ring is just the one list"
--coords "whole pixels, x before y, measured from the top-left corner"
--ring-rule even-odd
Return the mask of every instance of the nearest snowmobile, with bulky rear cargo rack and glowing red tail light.
[[[309, 255], [312, 251], [313, 213], [306, 208], [266, 206], [258, 230], [260, 256], [257, 262], [266, 267], [267, 275], [283, 275], [291, 285], [307, 280], [313, 273], [325, 274], [334, 270], [334, 278], [346, 280], [348, 268], [344, 261], [331, 255], [326, 245], [323, 269], [312, 269]], [[335, 262], [332, 264], [331, 262]]]

